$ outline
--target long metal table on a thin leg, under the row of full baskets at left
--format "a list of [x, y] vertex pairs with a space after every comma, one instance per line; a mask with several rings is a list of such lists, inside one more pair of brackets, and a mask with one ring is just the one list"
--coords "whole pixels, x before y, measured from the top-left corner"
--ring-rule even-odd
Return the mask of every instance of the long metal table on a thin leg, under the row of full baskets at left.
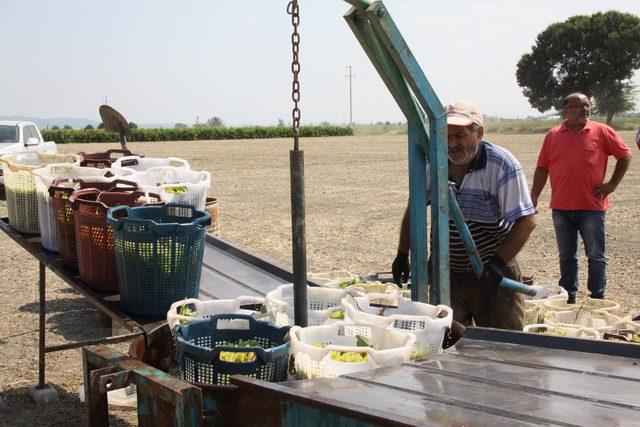
[[[55, 399], [55, 390], [45, 385], [45, 354], [56, 351], [80, 348], [95, 344], [113, 344], [130, 341], [138, 336], [152, 334], [161, 328], [165, 320], [149, 320], [131, 316], [120, 309], [119, 296], [89, 288], [82, 282], [77, 273], [66, 269], [57, 253], [47, 251], [40, 244], [40, 236], [21, 234], [9, 226], [7, 218], [0, 218], [0, 229], [14, 242], [27, 250], [39, 263], [39, 358], [38, 358], [38, 390], [47, 390], [49, 397]], [[86, 300], [103, 315], [108, 316], [114, 324], [118, 324], [125, 333], [110, 337], [69, 342], [59, 345], [45, 344], [46, 317], [46, 267], [82, 294]], [[280, 267], [273, 262], [260, 258], [223, 239], [207, 234], [202, 277], [200, 279], [201, 299], [236, 298], [241, 295], [264, 296], [283, 283], [291, 283], [291, 270]], [[310, 285], [317, 285], [313, 281]], [[34, 395], [34, 394], [32, 394]], [[35, 397], [34, 397], [35, 398]]]

